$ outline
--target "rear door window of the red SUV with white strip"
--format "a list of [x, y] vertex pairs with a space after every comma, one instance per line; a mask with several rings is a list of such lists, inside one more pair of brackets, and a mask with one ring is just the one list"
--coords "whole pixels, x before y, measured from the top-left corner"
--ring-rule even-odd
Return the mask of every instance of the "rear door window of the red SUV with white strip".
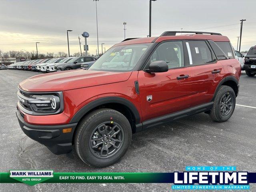
[[201, 65], [214, 62], [212, 53], [205, 41], [187, 41], [190, 65]]

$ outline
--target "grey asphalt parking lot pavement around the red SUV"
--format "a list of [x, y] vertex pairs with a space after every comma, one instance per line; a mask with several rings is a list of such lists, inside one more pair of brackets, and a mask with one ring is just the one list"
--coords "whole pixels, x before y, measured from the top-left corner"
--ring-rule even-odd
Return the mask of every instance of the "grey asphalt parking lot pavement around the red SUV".
[[[236, 166], [256, 172], [256, 76], [242, 72], [240, 92], [233, 116], [224, 123], [212, 122], [207, 114], [182, 118], [133, 135], [120, 162], [94, 169], [76, 154], [56, 156], [28, 138], [16, 118], [17, 86], [37, 72], [0, 71], [0, 172], [10, 169], [55, 172], [174, 172], [185, 166]], [[62, 188], [60, 188], [60, 186]], [[171, 184], [1, 184], [2, 191], [170, 191]], [[256, 191], [256, 185], [250, 186]]]

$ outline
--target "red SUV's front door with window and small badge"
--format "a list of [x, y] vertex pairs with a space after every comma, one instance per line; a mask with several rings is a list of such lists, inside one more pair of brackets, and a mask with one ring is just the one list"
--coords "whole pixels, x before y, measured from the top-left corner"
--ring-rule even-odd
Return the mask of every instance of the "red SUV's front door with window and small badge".
[[189, 108], [193, 100], [193, 81], [184, 59], [182, 41], [163, 42], [147, 65], [163, 60], [169, 70], [160, 73], [138, 72], [142, 121]]

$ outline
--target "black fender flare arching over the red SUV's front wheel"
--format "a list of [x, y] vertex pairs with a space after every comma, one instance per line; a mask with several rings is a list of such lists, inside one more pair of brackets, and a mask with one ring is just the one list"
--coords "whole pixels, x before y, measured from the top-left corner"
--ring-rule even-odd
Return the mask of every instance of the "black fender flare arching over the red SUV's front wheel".
[[88, 113], [90, 110], [92, 110], [92, 109], [94, 109], [98, 106], [101, 106], [101, 105], [104, 105], [104, 104], [109, 104], [109, 103], [116, 103], [116, 104], [125, 105], [133, 113], [133, 115], [135, 117], [135, 123], [136, 124], [140, 123], [140, 114], [139, 114], [137, 108], [134, 106], [134, 104], [132, 104], [132, 102], [130, 102], [129, 100], [127, 100], [125, 98], [121, 98], [121, 97], [103, 97], [103, 98], [96, 99], [96, 100], [86, 104], [80, 110], [78, 110], [78, 112], [76, 112], [76, 114], [70, 120], [70, 123], [80, 121], [80, 119], [86, 113]]

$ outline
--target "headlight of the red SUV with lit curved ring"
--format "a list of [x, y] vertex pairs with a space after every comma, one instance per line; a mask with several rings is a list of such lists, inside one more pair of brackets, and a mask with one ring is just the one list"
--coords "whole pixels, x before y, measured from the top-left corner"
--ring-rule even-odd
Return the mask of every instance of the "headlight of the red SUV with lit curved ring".
[[28, 103], [34, 112], [56, 112], [60, 108], [60, 98], [56, 95], [32, 95]]

